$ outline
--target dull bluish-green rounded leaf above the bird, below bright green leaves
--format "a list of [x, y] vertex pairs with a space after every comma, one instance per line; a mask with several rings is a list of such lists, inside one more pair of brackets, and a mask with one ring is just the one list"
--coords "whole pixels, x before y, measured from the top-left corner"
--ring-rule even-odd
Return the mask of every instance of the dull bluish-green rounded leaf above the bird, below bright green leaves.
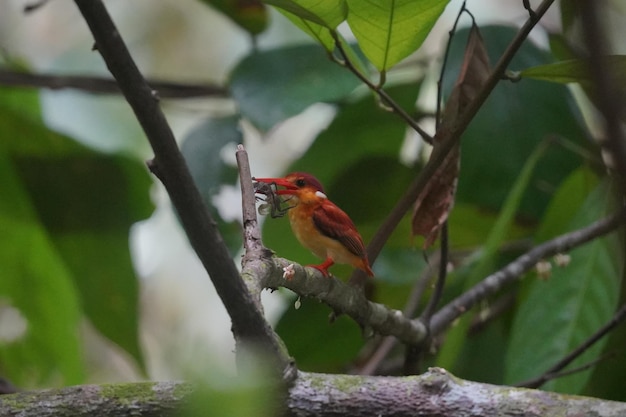
[[248, 55], [234, 69], [230, 82], [242, 115], [261, 130], [311, 104], [341, 100], [357, 86], [356, 77], [332, 63], [317, 45]]

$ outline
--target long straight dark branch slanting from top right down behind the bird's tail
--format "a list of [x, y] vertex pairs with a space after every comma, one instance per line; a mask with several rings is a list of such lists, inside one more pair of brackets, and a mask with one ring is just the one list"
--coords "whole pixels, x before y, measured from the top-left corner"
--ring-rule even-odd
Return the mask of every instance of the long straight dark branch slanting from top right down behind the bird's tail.
[[[448, 156], [448, 153], [458, 143], [461, 134], [465, 131], [465, 129], [467, 129], [469, 123], [472, 121], [476, 113], [478, 113], [478, 110], [483, 105], [489, 94], [491, 94], [491, 91], [498, 84], [498, 81], [502, 78], [517, 50], [526, 40], [528, 34], [535, 27], [537, 22], [548, 11], [552, 3], [554, 3], [554, 0], [544, 0], [539, 7], [537, 7], [535, 14], [529, 17], [524, 26], [522, 26], [522, 28], [517, 32], [509, 46], [506, 48], [500, 57], [500, 60], [494, 66], [483, 88], [481, 88], [476, 97], [468, 103], [455, 125], [448, 132], [448, 135], [446, 137], [442, 137], [442, 141], [439, 143], [439, 146], [433, 150], [428, 163], [424, 166], [420, 175], [409, 186], [406, 193], [398, 201], [391, 213], [389, 213], [389, 216], [387, 216], [381, 227], [372, 238], [369, 246], [367, 247], [367, 256], [370, 263], [374, 263], [385, 245], [385, 242], [387, 242], [387, 239], [391, 236], [391, 233], [395, 230], [396, 226], [400, 223], [406, 212], [415, 203], [417, 196], [428, 183], [430, 178], [435, 174], [439, 166], [443, 163], [445, 158]], [[364, 273], [359, 270], [355, 270], [350, 277], [350, 282], [358, 285], [364, 282], [365, 279], [366, 276]]]

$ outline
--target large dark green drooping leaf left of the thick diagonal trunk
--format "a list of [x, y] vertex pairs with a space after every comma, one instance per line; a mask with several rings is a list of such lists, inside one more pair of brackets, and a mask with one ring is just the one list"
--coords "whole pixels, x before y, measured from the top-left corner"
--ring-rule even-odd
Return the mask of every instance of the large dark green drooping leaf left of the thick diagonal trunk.
[[[23, 114], [12, 106], [0, 112], [2, 152], [35, 212], [29, 227], [47, 237], [48, 251], [53, 250], [66, 274], [52, 269], [33, 279], [46, 286], [72, 279], [80, 306], [95, 327], [143, 366], [128, 233], [152, 211], [147, 170], [138, 161], [88, 150]], [[31, 255], [34, 262], [50, 256]]]

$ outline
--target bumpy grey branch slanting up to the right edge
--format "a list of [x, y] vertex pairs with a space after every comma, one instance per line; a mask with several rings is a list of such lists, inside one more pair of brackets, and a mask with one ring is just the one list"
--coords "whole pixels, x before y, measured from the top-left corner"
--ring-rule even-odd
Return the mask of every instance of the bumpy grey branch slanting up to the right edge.
[[489, 275], [466, 293], [452, 300], [441, 308], [431, 320], [431, 334], [437, 335], [445, 330], [461, 314], [472, 308], [476, 303], [495, 294], [502, 287], [521, 278], [541, 259], [565, 253], [592, 239], [615, 230], [626, 221], [626, 209], [619, 213], [599, 220], [583, 229], [576, 230], [549, 240], [517, 258], [501, 270]]

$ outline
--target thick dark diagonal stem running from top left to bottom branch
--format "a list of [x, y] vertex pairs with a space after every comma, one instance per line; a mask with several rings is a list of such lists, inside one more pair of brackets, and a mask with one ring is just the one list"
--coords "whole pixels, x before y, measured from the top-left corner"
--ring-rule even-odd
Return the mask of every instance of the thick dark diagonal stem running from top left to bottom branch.
[[250, 296], [216, 222], [202, 202], [155, 92], [139, 72], [102, 1], [75, 3], [89, 25], [97, 50], [150, 141], [155, 154], [151, 168], [167, 189], [189, 241], [230, 315], [237, 347], [253, 345], [270, 355], [285, 375], [292, 373], [292, 361]]

